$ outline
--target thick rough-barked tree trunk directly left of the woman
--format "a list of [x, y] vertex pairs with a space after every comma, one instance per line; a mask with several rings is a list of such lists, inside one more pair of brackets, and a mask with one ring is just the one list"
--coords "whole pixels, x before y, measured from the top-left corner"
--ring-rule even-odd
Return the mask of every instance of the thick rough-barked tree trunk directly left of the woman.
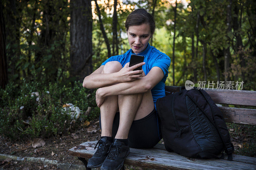
[[71, 0], [71, 76], [83, 81], [92, 73], [92, 5], [89, 0]]

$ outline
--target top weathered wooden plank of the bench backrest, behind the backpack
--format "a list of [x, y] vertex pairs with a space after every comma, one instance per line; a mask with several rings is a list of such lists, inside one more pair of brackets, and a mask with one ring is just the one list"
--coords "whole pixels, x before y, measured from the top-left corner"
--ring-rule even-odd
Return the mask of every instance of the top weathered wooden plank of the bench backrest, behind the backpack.
[[[168, 92], [177, 92], [178, 86], [165, 86]], [[256, 106], [256, 91], [228, 90], [228, 89], [204, 89], [215, 103], [235, 104], [244, 106]], [[166, 92], [166, 95], [170, 93]]]

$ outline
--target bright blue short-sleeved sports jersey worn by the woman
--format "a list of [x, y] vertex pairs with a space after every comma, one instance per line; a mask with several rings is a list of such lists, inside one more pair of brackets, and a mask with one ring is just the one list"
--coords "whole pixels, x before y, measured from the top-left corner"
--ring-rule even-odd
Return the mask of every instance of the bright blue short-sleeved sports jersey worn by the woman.
[[[118, 61], [124, 67], [126, 63], [130, 62], [132, 53], [133, 51], [132, 49], [130, 49], [122, 55], [116, 55], [108, 58], [101, 65], [105, 65], [109, 61]], [[160, 97], [165, 96], [164, 82], [166, 81], [166, 78], [169, 73], [168, 68], [171, 64], [171, 59], [165, 53], [162, 53], [159, 50], [157, 50], [155, 47], [150, 46], [149, 43], [147, 48], [141, 53], [139, 53], [138, 55], [144, 56], [144, 62], [146, 64], [142, 66], [142, 69], [146, 75], [153, 67], [159, 67], [164, 72], [164, 78], [158, 84], [156, 84], [156, 86], [153, 89], [151, 89], [153, 101], [156, 108], [156, 100]]]

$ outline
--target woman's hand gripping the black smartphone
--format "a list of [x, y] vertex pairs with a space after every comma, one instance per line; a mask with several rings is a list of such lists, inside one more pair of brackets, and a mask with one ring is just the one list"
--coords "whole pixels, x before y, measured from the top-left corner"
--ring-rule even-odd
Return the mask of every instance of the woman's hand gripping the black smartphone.
[[120, 76], [120, 82], [134, 81], [137, 78], [142, 76], [143, 70], [133, 71], [135, 68], [143, 66], [145, 62], [136, 64], [132, 67], [129, 67], [129, 62], [124, 65], [124, 67], [117, 72]]

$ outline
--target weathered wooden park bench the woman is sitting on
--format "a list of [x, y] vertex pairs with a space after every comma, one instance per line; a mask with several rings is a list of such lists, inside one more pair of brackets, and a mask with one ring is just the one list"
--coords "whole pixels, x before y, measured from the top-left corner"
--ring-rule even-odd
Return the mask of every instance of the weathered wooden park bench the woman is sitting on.
[[[180, 87], [165, 86], [166, 95], [179, 91]], [[215, 103], [256, 106], [256, 91], [204, 89]], [[229, 123], [256, 125], [256, 109], [219, 107], [224, 119]], [[85, 142], [69, 149], [69, 154], [78, 157], [84, 165], [85, 158], [91, 158], [95, 153], [97, 141]], [[152, 149], [130, 148], [130, 154], [124, 161], [126, 165], [147, 167], [152, 169], [256, 169], [256, 158], [235, 155], [233, 161], [225, 159], [194, 159], [167, 152], [164, 144], [157, 144]], [[86, 169], [90, 169], [87, 168]], [[124, 169], [124, 166], [122, 167]]]

